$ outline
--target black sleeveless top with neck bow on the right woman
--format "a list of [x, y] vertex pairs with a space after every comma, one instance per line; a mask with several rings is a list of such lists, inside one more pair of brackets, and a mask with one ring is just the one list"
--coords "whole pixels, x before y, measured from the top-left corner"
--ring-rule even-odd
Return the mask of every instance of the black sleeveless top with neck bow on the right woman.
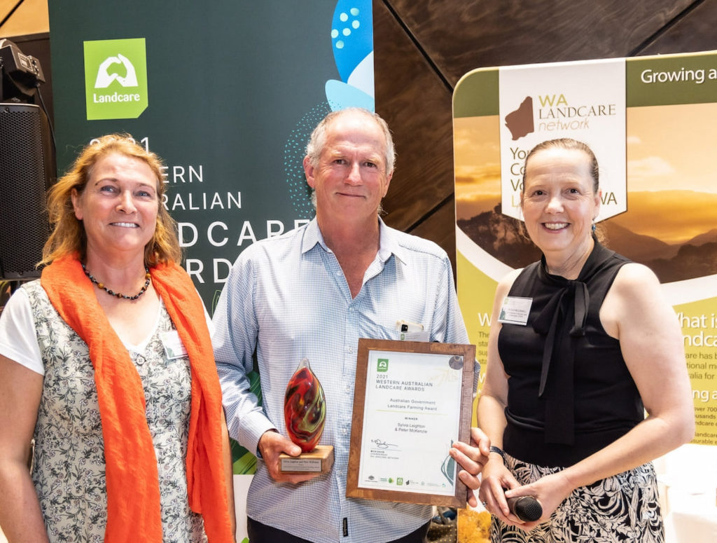
[[629, 262], [595, 240], [576, 280], [550, 275], [544, 257], [516, 278], [508, 296], [533, 301], [526, 326], [503, 324], [498, 336], [508, 374], [506, 453], [539, 466], [571, 466], [645, 417], [619, 341], [599, 317]]

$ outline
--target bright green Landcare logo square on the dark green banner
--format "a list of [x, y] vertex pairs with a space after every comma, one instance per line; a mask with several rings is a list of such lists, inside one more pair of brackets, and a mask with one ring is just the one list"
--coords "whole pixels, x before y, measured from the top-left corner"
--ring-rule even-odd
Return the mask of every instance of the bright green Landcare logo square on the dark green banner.
[[85, 42], [87, 121], [136, 119], [149, 105], [144, 38]]

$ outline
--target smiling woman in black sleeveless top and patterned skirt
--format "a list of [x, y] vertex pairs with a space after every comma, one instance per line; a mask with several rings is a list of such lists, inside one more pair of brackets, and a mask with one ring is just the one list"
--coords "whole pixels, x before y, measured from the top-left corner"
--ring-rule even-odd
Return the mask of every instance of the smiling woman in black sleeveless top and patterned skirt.
[[[650, 461], [693, 437], [683, 339], [655, 274], [600, 245], [599, 207], [587, 145], [528, 154], [521, 208], [543, 257], [498, 285], [478, 405], [494, 542], [664, 541]], [[515, 496], [541, 518], [512, 514]]]

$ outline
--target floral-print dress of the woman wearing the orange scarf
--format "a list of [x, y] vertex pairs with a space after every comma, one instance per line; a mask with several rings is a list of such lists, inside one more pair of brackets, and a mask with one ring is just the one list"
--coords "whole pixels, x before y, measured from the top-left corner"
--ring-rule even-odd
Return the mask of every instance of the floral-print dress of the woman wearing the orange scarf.
[[[87, 345], [60, 318], [39, 281], [22, 288], [37, 330], [44, 384], [34, 431], [32, 479], [50, 542], [102, 543], [107, 524], [105, 455], [94, 369]], [[205, 542], [201, 516], [189, 509], [189, 358], [169, 360], [160, 334], [174, 329], [163, 304], [158, 326], [130, 358], [142, 379], [157, 456], [165, 542]], [[142, 534], [137, 534], [141, 541]]]

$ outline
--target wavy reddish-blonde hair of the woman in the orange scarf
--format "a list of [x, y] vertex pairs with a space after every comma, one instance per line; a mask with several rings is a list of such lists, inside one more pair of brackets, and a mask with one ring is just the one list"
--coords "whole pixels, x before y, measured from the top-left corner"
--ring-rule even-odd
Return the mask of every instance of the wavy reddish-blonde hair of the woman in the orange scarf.
[[85, 260], [87, 251], [87, 235], [82, 221], [75, 217], [72, 206], [72, 189], [80, 195], [85, 191], [87, 181], [92, 176], [92, 169], [100, 159], [109, 154], [130, 156], [143, 161], [151, 169], [157, 180], [157, 225], [152, 239], [144, 248], [144, 263], [151, 267], [158, 263], [181, 261], [181, 247], [176, 234], [176, 222], [162, 204], [165, 186], [162, 181], [163, 164], [161, 159], [151, 151], [138, 145], [128, 134], [108, 134], [92, 140], [85, 146], [80, 156], [75, 159], [70, 171], [62, 176], [47, 192], [47, 211], [52, 225], [52, 234], [42, 249], [42, 261], [39, 265], [47, 265], [74, 252]]

